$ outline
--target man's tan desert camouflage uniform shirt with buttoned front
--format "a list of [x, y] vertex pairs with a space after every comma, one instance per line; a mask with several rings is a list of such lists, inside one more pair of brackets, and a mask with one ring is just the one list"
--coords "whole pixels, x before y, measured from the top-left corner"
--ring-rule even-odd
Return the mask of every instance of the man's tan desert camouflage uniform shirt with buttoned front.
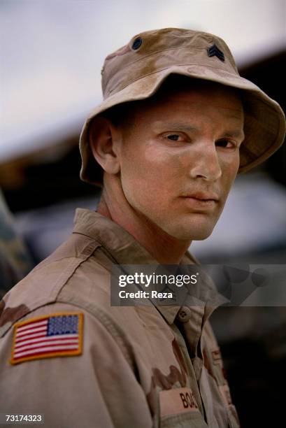
[[[44, 413], [50, 428], [239, 427], [213, 308], [110, 306], [112, 264], [156, 262], [117, 224], [80, 209], [69, 241], [6, 294], [1, 411]], [[52, 314], [82, 314], [79, 354], [11, 364], [13, 325]]]

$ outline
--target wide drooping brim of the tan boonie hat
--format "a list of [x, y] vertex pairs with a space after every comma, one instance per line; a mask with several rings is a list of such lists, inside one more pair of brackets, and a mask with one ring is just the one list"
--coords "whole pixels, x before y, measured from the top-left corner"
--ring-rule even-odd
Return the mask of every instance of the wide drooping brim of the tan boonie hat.
[[171, 66], [143, 76], [119, 92], [110, 95], [92, 110], [80, 134], [80, 154], [83, 160], [80, 178], [82, 180], [96, 185], [101, 184], [101, 167], [95, 161], [89, 144], [88, 131], [92, 119], [118, 104], [151, 97], [171, 74], [210, 80], [243, 90], [245, 140], [241, 145], [238, 173], [249, 171], [261, 164], [283, 143], [285, 137], [285, 115], [283, 110], [276, 101], [268, 97], [250, 80], [222, 69], [207, 67], [206, 65]]

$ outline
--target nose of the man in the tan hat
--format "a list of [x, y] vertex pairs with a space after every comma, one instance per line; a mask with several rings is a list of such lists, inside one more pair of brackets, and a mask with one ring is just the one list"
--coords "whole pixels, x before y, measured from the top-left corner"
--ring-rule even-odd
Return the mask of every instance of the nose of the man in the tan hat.
[[215, 143], [201, 144], [199, 150], [196, 151], [196, 155], [192, 157], [190, 176], [192, 178], [215, 181], [221, 175], [222, 169]]

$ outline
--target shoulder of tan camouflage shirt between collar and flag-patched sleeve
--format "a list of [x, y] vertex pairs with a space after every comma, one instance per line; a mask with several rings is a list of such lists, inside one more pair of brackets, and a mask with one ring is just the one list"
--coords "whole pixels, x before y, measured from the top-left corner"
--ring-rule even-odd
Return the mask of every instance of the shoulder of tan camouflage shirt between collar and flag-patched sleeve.
[[85, 308], [94, 293], [108, 301], [110, 264], [99, 242], [89, 236], [71, 235], [3, 297], [0, 334], [36, 308], [57, 301]]

